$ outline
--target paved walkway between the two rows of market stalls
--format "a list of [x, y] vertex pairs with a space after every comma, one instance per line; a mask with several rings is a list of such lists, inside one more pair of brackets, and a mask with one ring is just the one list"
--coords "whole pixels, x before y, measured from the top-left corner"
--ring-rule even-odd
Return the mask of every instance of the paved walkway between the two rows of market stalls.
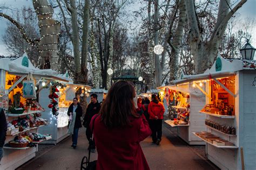
[[[178, 138], [167, 125], [163, 126], [163, 138], [159, 146], [151, 143], [151, 138], [145, 139], [142, 148], [151, 169], [218, 169], [204, 156], [200, 155], [198, 147], [188, 146]], [[87, 139], [85, 129], [80, 129], [76, 150], [71, 147], [71, 138], [66, 138], [56, 146], [48, 146], [39, 152], [36, 158], [26, 162], [18, 170], [58, 170], [80, 169], [80, 162], [87, 155]], [[97, 159], [97, 152], [92, 153], [91, 160]]]

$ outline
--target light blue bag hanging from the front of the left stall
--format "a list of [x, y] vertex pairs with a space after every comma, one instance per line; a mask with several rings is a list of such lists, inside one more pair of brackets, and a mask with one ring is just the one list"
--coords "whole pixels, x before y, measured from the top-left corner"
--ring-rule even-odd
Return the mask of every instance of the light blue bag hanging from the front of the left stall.
[[23, 81], [23, 97], [24, 98], [36, 98], [35, 81], [31, 73], [28, 74], [27, 80]]

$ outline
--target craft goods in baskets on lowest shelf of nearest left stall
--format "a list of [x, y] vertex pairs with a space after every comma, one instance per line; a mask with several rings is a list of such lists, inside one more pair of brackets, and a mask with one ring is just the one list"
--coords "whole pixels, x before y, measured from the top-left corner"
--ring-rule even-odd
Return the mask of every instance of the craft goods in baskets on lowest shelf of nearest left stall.
[[16, 136], [5, 146], [10, 147], [36, 147], [35, 143], [49, 139], [49, 134], [31, 133], [26, 131], [23, 135]]

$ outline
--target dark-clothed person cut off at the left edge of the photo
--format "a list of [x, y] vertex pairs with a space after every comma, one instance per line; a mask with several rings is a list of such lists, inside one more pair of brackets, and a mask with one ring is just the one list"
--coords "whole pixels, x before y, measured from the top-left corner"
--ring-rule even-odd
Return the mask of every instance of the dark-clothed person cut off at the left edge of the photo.
[[0, 108], [0, 162], [3, 158], [3, 146], [6, 136], [7, 126], [4, 110]]

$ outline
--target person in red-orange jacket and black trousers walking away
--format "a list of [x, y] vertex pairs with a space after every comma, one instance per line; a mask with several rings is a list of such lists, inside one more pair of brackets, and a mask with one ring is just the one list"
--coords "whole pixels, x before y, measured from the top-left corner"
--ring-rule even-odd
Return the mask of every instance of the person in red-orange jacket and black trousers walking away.
[[152, 140], [154, 144], [159, 145], [162, 136], [162, 122], [164, 118], [164, 104], [159, 102], [157, 95], [152, 95], [152, 101], [149, 104], [148, 112], [150, 115], [150, 128], [152, 130]]

